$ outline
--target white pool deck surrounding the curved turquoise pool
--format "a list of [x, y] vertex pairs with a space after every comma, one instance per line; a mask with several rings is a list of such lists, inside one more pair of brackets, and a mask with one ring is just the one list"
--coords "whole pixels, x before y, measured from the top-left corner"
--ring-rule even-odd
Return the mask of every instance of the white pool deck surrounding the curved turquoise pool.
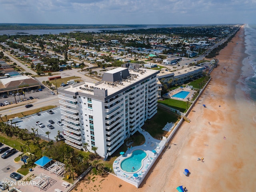
[[[116, 176], [130, 184], [133, 184], [138, 188], [140, 183], [145, 178], [146, 174], [148, 174], [151, 166], [154, 164], [156, 159], [158, 158], [158, 154], [162, 152], [165, 147], [166, 140], [157, 140], [154, 139], [150, 134], [144, 130], [140, 132], [146, 139], [145, 144], [140, 146], [131, 146], [128, 147], [127, 151], [125, 152], [124, 156], [120, 155], [113, 163], [113, 170]], [[142, 168], [137, 170], [136, 172], [127, 173], [120, 169], [120, 162], [127, 158], [132, 154], [132, 152], [136, 149], [144, 150], [148, 153], [148, 157], [143, 160]], [[152, 150], [156, 150], [156, 153], [153, 153]], [[138, 177], [134, 177], [133, 174], [137, 173]]]

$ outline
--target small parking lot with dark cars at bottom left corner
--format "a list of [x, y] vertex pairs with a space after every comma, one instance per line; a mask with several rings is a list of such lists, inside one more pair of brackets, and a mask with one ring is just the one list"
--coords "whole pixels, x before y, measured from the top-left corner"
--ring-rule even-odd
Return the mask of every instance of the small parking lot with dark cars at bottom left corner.
[[[1, 141], [1, 142], [4, 143], [4, 141]], [[7, 145], [4, 144], [0, 148], [3, 148], [3, 147], [7, 147]], [[12, 149], [12, 146], [8, 146], [8, 147]], [[22, 166], [23, 162], [19, 162], [19, 163], [14, 162], [14, 158], [19, 156], [20, 154], [21, 152], [17, 150], [16, 153], [12, 154], [6, 159], [0, 158], [0, 180], [5, 180], [4, 178], [8, 178], [12, 181], [15, 181], [15, 179], [10, 178], [10, 174], [12, 172], [17, 172], [17, 170]]]

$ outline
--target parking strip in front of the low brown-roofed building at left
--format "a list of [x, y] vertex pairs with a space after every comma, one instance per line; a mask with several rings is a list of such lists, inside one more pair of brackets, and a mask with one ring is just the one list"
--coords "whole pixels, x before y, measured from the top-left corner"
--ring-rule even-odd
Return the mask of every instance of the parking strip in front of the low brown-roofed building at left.
[[[31, 92], [31, 91], [25, 92], [25, 96], [24, 95], [12, 96], [12, 95], [1, 94], [0, 103], [4, 103], [4, 101], [6, 100], [10, 104], [12, 104], [12, 103], [15, 103], [15, 98], [16, 98], [16, 102], [19, 102], [20, 100], [22, 100], [23, 102], [26, 100], [30, 100], [29, 97], [33, 97], [34, 99], [50, 98], [51, 96], [53, 96], [50, 92], [52, 92], [52, 91], [49, 90], [48, 88], [44, 88], [44, 89], [42, 89], [42, 91], [38, 91], [38, 92]], [[6, 95], [8, 97], [3, 98], [4, 95]]]

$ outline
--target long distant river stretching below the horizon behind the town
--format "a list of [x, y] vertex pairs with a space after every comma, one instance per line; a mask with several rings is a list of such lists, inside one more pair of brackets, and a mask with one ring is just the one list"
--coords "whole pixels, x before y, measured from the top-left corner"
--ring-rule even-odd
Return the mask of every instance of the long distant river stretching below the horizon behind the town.
[[[132, 30], [132, 29], [149, 29], [149, 28], [167, 28], [167, 27], [181, 27], [181, 26], [205, 26], [205, 25], [142, 25], [142, 27], [129, 27], [129, 28], [88, 28], [88, 29], [40, 29], [40, 30], [0, 30], [0, 35], [44, 35], [44, 34], [60, 34], [70, 33], [75, 31], [81, 32], [102, 32], [102, 30]], [[26, 33], [26, 34], [24, 34]]]

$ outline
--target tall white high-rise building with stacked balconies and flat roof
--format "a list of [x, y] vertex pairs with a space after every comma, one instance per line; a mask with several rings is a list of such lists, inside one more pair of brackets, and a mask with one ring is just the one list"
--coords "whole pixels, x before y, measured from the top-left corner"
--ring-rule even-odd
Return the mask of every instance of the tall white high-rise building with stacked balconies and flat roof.
[[101, 82], [58, 89], [66, 143], [107, 158], [157, 112], [159, 71], [114, 68]]

